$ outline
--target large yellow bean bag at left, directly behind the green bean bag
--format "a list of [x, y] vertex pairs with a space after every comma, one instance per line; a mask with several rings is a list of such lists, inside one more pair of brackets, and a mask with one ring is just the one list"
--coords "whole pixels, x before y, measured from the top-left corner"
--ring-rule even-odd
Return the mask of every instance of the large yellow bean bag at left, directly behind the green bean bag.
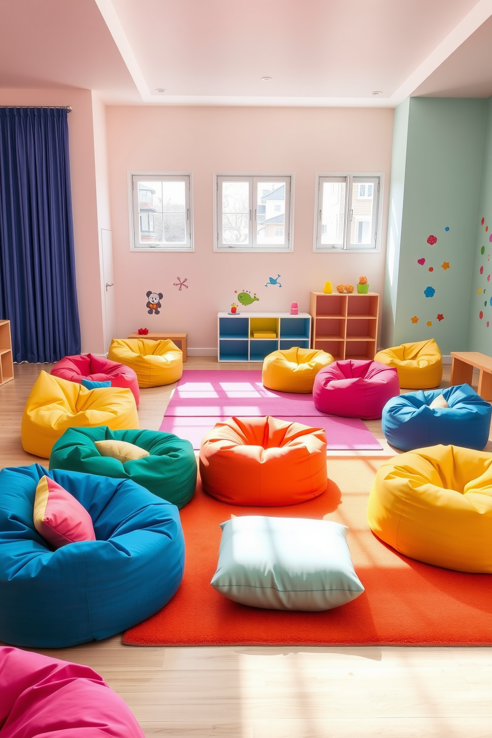
[[24, 451], [48, 458], [55, 441], [71, 427], [138, 428], [135, 398], [126, 388], [86, 390], [82, 384], [42, 371], [22, 415]]

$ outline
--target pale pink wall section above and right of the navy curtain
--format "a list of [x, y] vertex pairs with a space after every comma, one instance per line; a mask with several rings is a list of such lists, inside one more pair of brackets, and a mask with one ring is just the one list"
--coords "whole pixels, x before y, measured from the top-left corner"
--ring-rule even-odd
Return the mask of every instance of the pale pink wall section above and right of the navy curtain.
[[82, 351], [103, 353], [91, 91], [0, 89], [0, 105], [72, 106], [69, 114], [70, 179]]

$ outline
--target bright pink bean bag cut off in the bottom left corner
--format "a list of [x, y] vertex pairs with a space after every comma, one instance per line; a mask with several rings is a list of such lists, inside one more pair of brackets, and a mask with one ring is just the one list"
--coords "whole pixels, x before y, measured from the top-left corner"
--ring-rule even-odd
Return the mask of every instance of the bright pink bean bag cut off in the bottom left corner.
[[144, 738], [89, 666], [0, 646], [1, 738]]

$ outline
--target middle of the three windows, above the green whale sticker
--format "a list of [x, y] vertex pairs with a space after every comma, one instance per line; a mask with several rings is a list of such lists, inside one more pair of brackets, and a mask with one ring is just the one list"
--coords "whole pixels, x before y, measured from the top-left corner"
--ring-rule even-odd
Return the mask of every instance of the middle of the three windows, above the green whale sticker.
[[216, 177], [215, 251], [291, 251], [291, 175]]

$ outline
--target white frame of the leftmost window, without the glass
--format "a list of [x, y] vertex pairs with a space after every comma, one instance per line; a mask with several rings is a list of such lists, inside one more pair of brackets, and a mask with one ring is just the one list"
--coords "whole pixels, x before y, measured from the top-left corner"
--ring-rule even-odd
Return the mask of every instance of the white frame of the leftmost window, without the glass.
[[[139, 180], [145, 182], [185, 182], [185, 210], [187, 214], [186, 244], [154, 244], [142, 246], [139, 244], [139, 202], [136, 197]], [[186, 186], [187, 183], [187, 186]], [[128, 203], [130, 209], [130, 251], [135, 252], [193, 252], [195, 243], [193, 238], [193, 172], [167, 171], [151, 172], [142, 170], [128, 171]]]

